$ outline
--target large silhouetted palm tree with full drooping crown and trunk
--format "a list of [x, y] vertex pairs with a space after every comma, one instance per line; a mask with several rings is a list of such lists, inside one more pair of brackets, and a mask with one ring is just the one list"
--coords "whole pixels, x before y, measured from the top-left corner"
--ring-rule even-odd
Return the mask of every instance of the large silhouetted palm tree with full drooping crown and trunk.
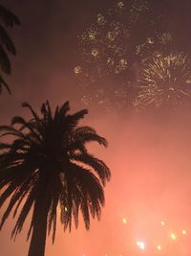
[[20, 209], [11, 233], [15, 238], [32, 212], [28, 255], [43, 256], [47, 233], [52, 230], [54, 242], [57, 205], [64, 230], [71, 231], [73, 220], [77, 227], [79, 211], [86, 229], [90, 227], [91, 216], [99, 220], [104, 205], [103, 187], [110, 179], [110, 170], [87, 151], [86, 143], [95, 141], [106, 147], [107, 141], [94, 128], [77, 126], [88, 113], [86, 109], [68, 114], [67, 102], [57, 106], [53, 113], [46, 102], [39, 116], [31, 105], [23, 106], [31, 109], [30, 121], [16, 116], [11, 126], [0, 127], [3, 136], [14, 138], [11, 143], [0, 144], [0, 207], [11, 198], [0, 228], [13, 206], [13, 217]]

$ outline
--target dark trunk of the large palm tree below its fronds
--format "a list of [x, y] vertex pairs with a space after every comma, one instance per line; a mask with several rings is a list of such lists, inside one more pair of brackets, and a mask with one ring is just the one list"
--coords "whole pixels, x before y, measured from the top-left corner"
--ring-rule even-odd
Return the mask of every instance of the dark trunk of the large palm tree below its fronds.
[[44, 256], [47, 238], [48, 203], [44, 198], [35, 201], [33, 209], [32, 239], [28, 256]]

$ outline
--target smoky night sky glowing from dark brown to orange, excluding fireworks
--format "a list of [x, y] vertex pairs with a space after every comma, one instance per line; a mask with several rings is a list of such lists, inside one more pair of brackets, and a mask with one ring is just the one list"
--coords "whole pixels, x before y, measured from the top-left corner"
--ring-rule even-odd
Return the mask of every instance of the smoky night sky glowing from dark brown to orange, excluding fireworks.
[[[168, 13], [165, 24], [174, 33], [177, 47], [190, 55], [191, 2], [153, 2], [155, 12]], [[19, 17], [21, 25], [10, 31], [17, 55], [11, 58], [12, 74], [7, 78], [11, 96], [6, 90], [0, 95], [0, 124], [9, 123], [14, 115], [27, 116], [21, 107], [23, 102], [38, 108], [47, 99], [53, 106], [69, 100], [72, 111], [82, 107], [90, 110], [84, 122], [109, 141], [106, 150], [95, 145], [90, 149], [112, 172], [101, 221], [92, 221], [88, 232], [81, 222], [71, 234], [64, 234], [58, 224], [55, 243], [48, 239], [46, 256], [189, 256], [190, 108], [163, 108], [152, 113], [124, 111], [125, 116], [121, 116], [116, 108], [108, 113], [98, 105], [83, 105], [80, 100], [82, 88], [74, 76], [74, 67], [80, 63], [77, 35], [82, 35], [95, 22], [97, 13], [107, 12], [115, 1], [1, 3]], [[106, 89], [111, 80], [104, 80]], [[91, 86], [90, 91], [94, 93]], [[26, 230], [13, 243], [11, 227], [10, 219], [0, 232], [2, 256], [27, 255]], [[145, 250], [141, 250], [141, 243]]]

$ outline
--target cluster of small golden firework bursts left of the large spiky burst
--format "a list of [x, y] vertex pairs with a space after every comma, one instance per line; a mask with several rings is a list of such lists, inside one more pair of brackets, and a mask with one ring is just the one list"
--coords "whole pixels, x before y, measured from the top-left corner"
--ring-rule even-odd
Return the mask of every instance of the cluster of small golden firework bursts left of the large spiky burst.
[[[145, 16], [150, 18], [145, 21]], [[156, 22], [148, 0], [116, 1], [78, 36], [80, 54], [74, 75], [83, 104], [114, 106], [119, 111], [133, 107], [139, 64], [172, 40], [169, 33], [151, 24]]]

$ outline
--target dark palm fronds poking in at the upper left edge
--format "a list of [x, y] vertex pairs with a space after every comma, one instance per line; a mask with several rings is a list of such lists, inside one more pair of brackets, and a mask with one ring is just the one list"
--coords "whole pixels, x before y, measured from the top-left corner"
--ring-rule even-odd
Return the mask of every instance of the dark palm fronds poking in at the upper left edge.
[[[8, 35], [4, 27], [12, 28], [14, 25], [19, 25], [18, 18], [7, 8], [0, 5], [0, 69], [1, 73], [7, 75], [11, 74], [11, 61], [7, 52], [11, 55], [15, 55], [16, 49], [10, 35]], [[11, 93], [9, 85], [3, 79], [2, 74], [0, 74], [0, 92], [3, 86]]]

